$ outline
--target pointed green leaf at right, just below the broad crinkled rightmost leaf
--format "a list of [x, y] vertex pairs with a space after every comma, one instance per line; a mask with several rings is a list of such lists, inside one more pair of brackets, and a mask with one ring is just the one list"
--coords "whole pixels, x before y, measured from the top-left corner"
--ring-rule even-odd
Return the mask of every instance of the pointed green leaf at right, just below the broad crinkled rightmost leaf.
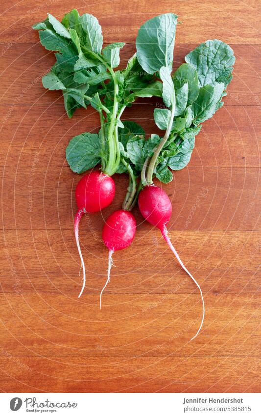
[[219, 107], [217, 103], [222, 96], [223, 90], [223, 83], [215, 83], [214, 86], [204, 85], [204, 87], [200, 87], [198, 98], [191, 106], [194, 125], [198, 125], [213, 116], [214, 112]]

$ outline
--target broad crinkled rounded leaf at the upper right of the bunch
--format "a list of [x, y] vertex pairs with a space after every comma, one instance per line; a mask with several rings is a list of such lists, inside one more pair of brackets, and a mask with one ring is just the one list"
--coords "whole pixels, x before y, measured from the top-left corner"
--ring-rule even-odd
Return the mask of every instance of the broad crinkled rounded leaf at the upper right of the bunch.
[[185, 56], [185, 61], [196, 69], [202, 87], [218, 82], [226, 88], [232, 80], [235, 63], [233, 49], [218, 39], [200, 44]]

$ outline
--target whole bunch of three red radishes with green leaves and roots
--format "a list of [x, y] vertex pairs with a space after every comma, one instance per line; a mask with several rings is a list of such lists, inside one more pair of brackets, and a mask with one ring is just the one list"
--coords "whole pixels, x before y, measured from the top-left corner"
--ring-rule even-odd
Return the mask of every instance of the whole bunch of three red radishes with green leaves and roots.
[[[71, 169], [82, 173], [101, 165], [101, 170], [87, 173], [77, 184], [75, 198], [78, 211], [74, 220], [77, 248], [83, 268], [82, 295], [86, 276], [79, 245], [79, 222], [83, 214], [107, 207], [115, 195], [114, 173], [128, 173], [129, 187], [122, 209], [106, 220], [102, 239], [109, 250], [107, 281], [110, 280], [112, 255], [127, 248], [136, 232], [131, 213], [138, 201], [144, 219], [158, 227], [182, 268], [200, 290], [204, 320], [204, 300], [200, 286], [180, 260], [168, 234], [172, 206], [161, 187], [173, 178], [172, 171], [182, 169], [189, 161], [195, 136], [201, 123], [213, 116], [222, 105], [226, 87], [232, 80], [235, 57], [233, 50], [219, 40], [206, 41], [191, 51], [172, 73], [177, 16], [167, 13], [145, 22], [136, 40], [137, 53], [126, 68], [119, 66], [119, 51], [124, 43], [104, 48], [101, 27], [89, 14], [77, 10], [66, 14], [60, 23], [52, 15], [33, 26], [39, 30], [40, 42], [47, 50], [56, 51], [56, 63], [43, 77], [50, 90], [63, 92], [69, 117], [78, 107], [91, 105], [100, 116], [98, 134], [83, 133], [71, 139], [66, 158]], [[154, 111], [156, 125], [165, 131], [163, 138], [151, 135], [145, 139], [141, 126], [120, 120], [126, 107], [137, 97], [161, 97], [165, 106]], [[193, 337], [193, 338], [194, 338]]]

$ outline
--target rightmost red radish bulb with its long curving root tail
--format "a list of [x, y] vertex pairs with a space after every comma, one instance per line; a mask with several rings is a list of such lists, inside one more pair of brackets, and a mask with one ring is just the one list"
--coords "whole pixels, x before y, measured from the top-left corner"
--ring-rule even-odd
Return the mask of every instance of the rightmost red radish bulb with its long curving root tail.
[[139, 202], [139, 209], [144, 219], [146, 219], [149, 223], [153, 224], [153, 226], [156, 226], [160, 229], [164, 239], [166, 240], [166, 243], [168, 244], [168, 247], [172, 250], [172, 252], [176, 256], [182, 268], [187, 272], [187, 274], [190, 276], [190, 278], [195, 282], [195, 284], [199, 288], [201, 299], [202, 299], [202, 304], [203, 304], [203, 315], [202, 315], [201, 324], [197, 333], [195, 334], [195, 336], [193, 336], [190, 339], [190, 340], [193, 340], [199, 334], [200, 329], [203, 325], [204, 316], [205, 316], [205, 305], [204, 305], [203, 294], [202, 294], [199, 284], [197, 283], [195, 278], [192, 277], [192, 275], [187, 270], [187, 268], [184, 266], [183, 262], [181, 261], [178, 253], [173, 247], [167, 234], [166, 224], [169, 222], [171, 213], [172, 213], [172, 206], [171, 206], [170, 199], [168, 198], [164, 190], [152, 184], [152, 185], [147, 185], [146, 187], [143, 188], [143, 190], [141, 191], [139, 195], [138, 202]]

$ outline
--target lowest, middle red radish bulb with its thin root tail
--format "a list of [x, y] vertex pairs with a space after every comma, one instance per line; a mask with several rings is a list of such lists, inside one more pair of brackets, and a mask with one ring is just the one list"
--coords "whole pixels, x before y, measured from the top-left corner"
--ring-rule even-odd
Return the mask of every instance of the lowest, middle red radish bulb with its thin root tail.
[[107, 281], [100, 293], [101, 296], [106, 285], [110, 281], [110, 271], [113, 265], [112, 255], [115, 250], [127, 248], [133, 241], [136, 233], [136, 220], [133, 214], [128, 210], [116, 210], [112, 213], [102, 230], [102, 240], [104, 245], [109, 249]]

